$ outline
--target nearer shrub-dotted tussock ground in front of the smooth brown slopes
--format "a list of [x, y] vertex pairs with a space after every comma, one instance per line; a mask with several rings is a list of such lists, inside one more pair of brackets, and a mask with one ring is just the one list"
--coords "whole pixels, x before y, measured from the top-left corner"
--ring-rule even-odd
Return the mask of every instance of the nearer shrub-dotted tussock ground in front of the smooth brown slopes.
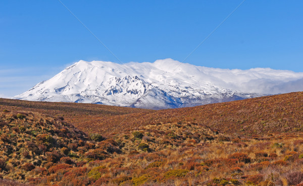
[[238, 136], [195, 122], [168, 122], [121, 129], [104, 138], [86, 136], [62, 120], [0, 112], [0, 185], [18, 185], [13, 180], [25, 185], [303, 183], [300, 130]]

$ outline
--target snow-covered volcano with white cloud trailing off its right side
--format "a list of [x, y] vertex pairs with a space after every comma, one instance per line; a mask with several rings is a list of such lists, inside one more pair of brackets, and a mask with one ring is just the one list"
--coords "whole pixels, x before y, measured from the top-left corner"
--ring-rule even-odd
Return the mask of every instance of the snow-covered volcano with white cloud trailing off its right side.
[[172, 59], [79, 61], [14, 99], [166, 109], [303, 90], [303, 73], [195, 66]]

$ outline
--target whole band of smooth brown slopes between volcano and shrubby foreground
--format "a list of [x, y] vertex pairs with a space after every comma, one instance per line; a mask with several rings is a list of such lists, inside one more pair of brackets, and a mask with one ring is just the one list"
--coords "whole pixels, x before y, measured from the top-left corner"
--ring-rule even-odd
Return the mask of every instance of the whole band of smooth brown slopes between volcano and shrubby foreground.
[[[63, 116], [86, 133], [103, 135], [154, 123], [195, 122], [240, 135], [303, 130], [303, 92], [160, 111], [95, 104], [0, 99], [0, 109]], [[232, 125], [232, 127], [230, 127]]]

